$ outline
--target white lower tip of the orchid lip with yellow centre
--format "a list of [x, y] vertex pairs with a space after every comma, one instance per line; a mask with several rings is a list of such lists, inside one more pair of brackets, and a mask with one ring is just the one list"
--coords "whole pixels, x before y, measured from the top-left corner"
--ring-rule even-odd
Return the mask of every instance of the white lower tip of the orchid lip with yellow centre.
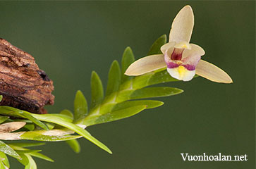
[[183, 81], [190, 81], [195, 75], [195, 70], [188, 70], [182, 65], [178, 66], [178, 68], [167, 68], [167, 71], [171, 77]]

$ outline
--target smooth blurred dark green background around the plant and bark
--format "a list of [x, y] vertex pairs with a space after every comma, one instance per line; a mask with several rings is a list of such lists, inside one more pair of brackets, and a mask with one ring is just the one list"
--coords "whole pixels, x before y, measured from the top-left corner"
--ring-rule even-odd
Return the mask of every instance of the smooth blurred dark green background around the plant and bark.
[[[35, 57], [54, 81], [52, 113], [73, 108], [81, 89], [90, 101], [90, 74], [104, 86], [111, 62], [130, 46], [135, 58], [169, 35], [176, 13], [195, 13], [191, 42], [206, 61], [223, 68], [233, 84], [197, 77], [166, 86], [183, 94], [160, 99], [164, 106], [88, 130], [114, 152], [86, 139], [75, 154], [65, 143], [49, 143], [39, 168], [255, 168], [255, 1], [1, 1], [0, 37]], [[248, 161], [183, 161], [190, 155], [248, 155]], [[14, 162], [12, 168], [23, 168]]]

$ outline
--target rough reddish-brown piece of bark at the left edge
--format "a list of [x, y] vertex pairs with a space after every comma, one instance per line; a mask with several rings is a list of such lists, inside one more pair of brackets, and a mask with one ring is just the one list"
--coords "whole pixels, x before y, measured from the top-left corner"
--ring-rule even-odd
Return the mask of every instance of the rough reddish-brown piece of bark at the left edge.
[[1, 106], [47, 113], [43, 107], [54, 104], [53, 90], [53, 82], [30, 54], [0, 38]]

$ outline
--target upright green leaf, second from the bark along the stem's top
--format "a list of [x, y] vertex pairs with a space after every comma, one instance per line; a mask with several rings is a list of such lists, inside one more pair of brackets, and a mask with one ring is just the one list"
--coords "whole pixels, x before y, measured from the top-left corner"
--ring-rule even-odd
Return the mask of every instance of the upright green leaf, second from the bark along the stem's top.
[[103, 96], [104, 96], [102, 81], [100, 80], [99, 75], [97, 75], [95, 71], [92, 72], [91, 91], [92, 91], [91, 108], [94, 108], [98, 104], [102, 103]]

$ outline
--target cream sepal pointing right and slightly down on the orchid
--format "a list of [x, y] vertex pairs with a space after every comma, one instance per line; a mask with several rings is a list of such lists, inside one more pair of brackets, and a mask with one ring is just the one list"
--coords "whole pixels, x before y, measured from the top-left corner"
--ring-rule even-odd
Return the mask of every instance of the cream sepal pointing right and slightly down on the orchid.
[[202, 59], [198, 62], [197, 67], [195, 68], [195, 73], [213, 82], [233, 82], [231, 77], [227, 73], [225, 73], [224, 70], [221, 70], [212, 63], [202, 61]]

